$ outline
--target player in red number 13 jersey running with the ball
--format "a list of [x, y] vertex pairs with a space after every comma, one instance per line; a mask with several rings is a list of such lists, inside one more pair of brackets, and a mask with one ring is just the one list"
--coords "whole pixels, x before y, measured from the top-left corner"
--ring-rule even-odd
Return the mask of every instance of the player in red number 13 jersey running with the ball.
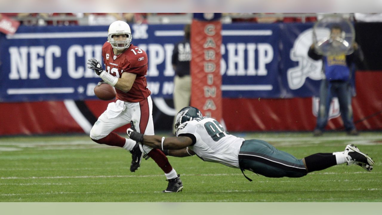
[[147, 54], [130, 44], [131, 39], [131, 30], [127, 23], [113, 22], [108, 30], [108, 41], [102, 47], [106, 71], [96, 59], [89, 59], [87, 62], [88, 68], [94, 70], [106, 83], [114, 86], [117, 92], [116, 101], [108, 104], [106, 111], [93, 125], [90, 137], [96, 143], [129, 150], [132, 154], [131, 172], [140, 166], [143, 153], [147, 154], [165, 172], [168, 187], [163, 192], [179, 192], [183, 189], [183, 184], [162, 151], [142, 146], [134, 140], [112, 132], [133, 121], [138, 125], [137, 132], [154, 135], [151, 91], [147, 88], [145, 77]]

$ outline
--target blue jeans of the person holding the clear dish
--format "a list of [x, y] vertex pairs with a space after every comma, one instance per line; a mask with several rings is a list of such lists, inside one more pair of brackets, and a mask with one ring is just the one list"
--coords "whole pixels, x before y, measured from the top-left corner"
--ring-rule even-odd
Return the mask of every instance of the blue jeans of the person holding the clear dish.
[[327, 81], [320, 86], [320, 102], [316, 129], [323, 131], [328, 123], [329, 107], [333, 97], [338, 98], [343, 125], [346, 131], [355, 129], [351, 108], [351, 87], [348, 81]]

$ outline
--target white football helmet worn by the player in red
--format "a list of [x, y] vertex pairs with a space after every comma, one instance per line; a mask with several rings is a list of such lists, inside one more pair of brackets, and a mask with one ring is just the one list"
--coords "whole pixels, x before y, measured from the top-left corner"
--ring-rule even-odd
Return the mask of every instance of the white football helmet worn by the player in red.
[[[124, 41], [114, 41], [113, 35], [126, 34], [127, 39]], [[130, 46], [131, 39], [131, 29], [129, 24], [124, 21], [115, 21], [109, 26], [107, 40], [110, 42], [115, 49], [126, 49]], [[118, 44], [123, 44], [123, 46], [118, 46]]]

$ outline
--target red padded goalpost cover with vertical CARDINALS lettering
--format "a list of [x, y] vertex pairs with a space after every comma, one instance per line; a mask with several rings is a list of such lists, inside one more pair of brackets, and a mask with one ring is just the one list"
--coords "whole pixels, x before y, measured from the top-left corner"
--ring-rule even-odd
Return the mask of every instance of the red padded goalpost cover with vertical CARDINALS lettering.
[[220, 75], [220, 21], [191, 24], [191, 106], [220, 121], [222, 119], [222, 76]]

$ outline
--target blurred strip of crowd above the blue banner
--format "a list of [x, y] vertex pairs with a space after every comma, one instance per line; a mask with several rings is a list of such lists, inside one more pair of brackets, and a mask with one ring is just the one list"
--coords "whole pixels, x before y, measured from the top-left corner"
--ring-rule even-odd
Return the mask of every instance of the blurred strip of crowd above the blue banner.
[[[1, 16], [16, 19], [23, 25], [108, 25], [116, 20], [127, 23], [157, 22], [180, 23], [190, 22], [190, 13], [0, 13]], [[324, 13], [223, 13], [223, 23], [252, 22], [252, 23], [291, 23], [316, 22]], [[351, 21], [382, 21], [382, 13], [347, 13], [343, 14]], [[156, 23], [157, 24], [157, 23]]]

